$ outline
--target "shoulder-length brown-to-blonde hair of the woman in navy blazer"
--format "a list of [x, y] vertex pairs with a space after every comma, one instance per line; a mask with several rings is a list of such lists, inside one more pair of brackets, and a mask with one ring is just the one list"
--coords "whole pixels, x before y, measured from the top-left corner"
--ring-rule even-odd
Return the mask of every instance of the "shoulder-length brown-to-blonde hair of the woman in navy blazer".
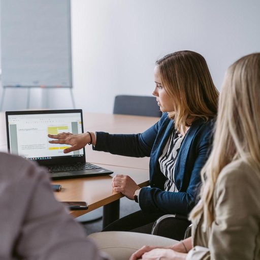
[[212, 81], [204, 57], [194, 51], [177, 51], [160, 58], [158, 66], [161, 83], [172, 97], [175, 128], [185, 131], [188, 118], [205, 121], [217, 113], [218, 90]]

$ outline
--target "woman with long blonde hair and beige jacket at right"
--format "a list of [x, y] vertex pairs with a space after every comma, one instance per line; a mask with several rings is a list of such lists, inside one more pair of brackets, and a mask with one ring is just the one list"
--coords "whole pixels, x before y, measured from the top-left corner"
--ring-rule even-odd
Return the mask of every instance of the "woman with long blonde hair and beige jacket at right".
[[175, 251], [144, 247], [132, 260], [260, 259], [259, 100], [260, 53], [254, 53], [225, 75], [213, 149], [202, 170], [201, 201], [190, 215], [192, 242], [171, 247]]

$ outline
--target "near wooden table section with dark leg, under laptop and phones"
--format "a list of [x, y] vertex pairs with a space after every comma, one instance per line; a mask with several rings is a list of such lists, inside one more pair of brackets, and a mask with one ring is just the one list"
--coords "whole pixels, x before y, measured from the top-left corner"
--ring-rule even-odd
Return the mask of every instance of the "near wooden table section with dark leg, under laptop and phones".
[[149, 171], [111, 165], [100, 166], [106, 167], [114, 173], [108, 176], [56, 180], [52, 183], [62, 186], [59, 192], [54, 193], [58, 201], [85, 201], [88, 203], [87, 210], [71, 211], [70, 213], [74, 217], [104, 206], [103, 226], [105, 227], [119, 218], [119, 199], [124, 197], [121, 193], [113, 191], [111, 185], [113, 176], [126, 174], [134, 179], [140, 187], [144, 187], [149, 185]]

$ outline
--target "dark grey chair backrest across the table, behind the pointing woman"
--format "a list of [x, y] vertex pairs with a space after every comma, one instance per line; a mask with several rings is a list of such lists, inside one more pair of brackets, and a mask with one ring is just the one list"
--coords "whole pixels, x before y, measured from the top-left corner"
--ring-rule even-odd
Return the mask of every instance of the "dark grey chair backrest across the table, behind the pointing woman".
[[160, 117], [161, 111], [155, 96], [117, 95], [114, 114]]

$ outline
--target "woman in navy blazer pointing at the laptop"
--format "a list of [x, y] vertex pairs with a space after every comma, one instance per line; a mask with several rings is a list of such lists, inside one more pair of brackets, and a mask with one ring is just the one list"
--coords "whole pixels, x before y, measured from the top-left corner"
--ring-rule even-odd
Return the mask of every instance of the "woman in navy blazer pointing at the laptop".
[[[202, 55], [179, 51], [156, 62], [154, 69], [161, 119], [138, 135], [110, 135], [96, 132], [50, 136], [51, 143], [69, 144], [70, 152], [91, 143], [94, 150], [113, 154], [150, 157], [150, 186], [140, 188], [125, 175], [116, 175], [112, 186], [141, 210], [115, 221], [105, 231], [151, 233], [154, 221], [167, 213], [187, 215], [196, 204], [200, 171], [211, 145], [211, 118], [217, 112], [218, 91]], [[181, 239], [188, 222], [180, 220], [175, 239]], [[165, 234], [173, 236], [169, 227]]]

